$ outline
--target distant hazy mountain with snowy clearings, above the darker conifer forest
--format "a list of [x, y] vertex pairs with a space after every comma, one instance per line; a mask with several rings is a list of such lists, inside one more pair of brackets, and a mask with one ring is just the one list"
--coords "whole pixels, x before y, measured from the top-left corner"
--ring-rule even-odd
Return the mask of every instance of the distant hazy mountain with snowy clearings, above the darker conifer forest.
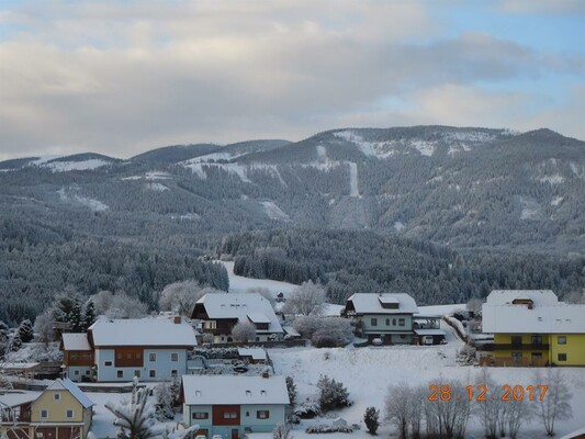
[[[181, 241], [368, 229], [453, 248], [585, 248], [585, 143], [550, 130], [345, 128], [0, 162], [0, 211], [72, 233]], [[2, 215], [2, 214], [0, 214]], [[145, 236], [145, 234], [147, 236]]]

